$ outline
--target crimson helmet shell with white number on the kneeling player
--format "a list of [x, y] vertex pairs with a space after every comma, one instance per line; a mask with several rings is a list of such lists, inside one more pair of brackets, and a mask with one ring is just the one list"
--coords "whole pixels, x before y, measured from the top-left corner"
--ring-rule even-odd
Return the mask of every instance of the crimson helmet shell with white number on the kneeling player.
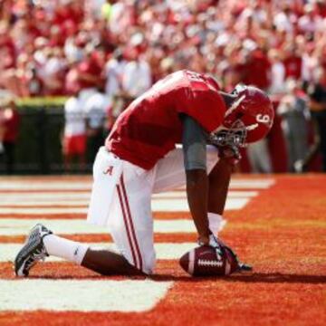
[[226, 129], [245, 129], [245, 143], [263, 139], [272, 128], [274, 110], [271, 100], [254, 86], [236, 85], [235, 101], [225, 112]]

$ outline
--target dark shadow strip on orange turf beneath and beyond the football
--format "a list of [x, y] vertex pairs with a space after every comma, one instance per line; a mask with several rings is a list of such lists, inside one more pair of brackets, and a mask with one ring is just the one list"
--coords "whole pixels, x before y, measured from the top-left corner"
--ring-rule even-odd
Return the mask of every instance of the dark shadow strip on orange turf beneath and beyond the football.
[[168, 274], [158, 274], [151, 276], [151, 279], [158, 282], [175, 281], [175, 282], [203, 282], [218, 281], [235, 283], [305, 283], [319, 284], [326, 283], [326, 275], [309, 275], [309, 274], [288, 274], [288, 273], [236, 273], [230, 276], [221, 277], [190, 277], [187, 275], [173, 276]]

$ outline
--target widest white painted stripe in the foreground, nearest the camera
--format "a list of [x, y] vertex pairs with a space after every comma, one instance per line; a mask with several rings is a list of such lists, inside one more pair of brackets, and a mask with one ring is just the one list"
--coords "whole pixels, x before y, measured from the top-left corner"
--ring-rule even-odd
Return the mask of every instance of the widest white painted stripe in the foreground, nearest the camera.
[[0, 311], [147, 312], [173, 282], [0, 280]]

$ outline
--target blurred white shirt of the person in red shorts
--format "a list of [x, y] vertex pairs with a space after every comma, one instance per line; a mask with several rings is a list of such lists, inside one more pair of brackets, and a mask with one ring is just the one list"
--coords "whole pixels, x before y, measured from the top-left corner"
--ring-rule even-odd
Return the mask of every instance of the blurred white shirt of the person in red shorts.
[[76, 97], [72, 96], [64, 103], [64, 120], [64, 136], [72, 137], [86, 133], [82, 105]]

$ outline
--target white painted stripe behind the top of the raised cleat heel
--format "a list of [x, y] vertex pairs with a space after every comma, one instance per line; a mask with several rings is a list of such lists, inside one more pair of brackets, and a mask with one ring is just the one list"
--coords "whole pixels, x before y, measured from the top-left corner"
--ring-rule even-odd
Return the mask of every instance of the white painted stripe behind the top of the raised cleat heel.
[[[16, 219], [0, 218], [0, 235], [26, 235], [36, 222], [46, 225], [53, 233], [60, 235], [101, 235], [108, 234], [109, 228], [86, 223], [85, 219]], [[155, 220], [154, 232], [156, 233], [195, 233], [192, 220]]]

